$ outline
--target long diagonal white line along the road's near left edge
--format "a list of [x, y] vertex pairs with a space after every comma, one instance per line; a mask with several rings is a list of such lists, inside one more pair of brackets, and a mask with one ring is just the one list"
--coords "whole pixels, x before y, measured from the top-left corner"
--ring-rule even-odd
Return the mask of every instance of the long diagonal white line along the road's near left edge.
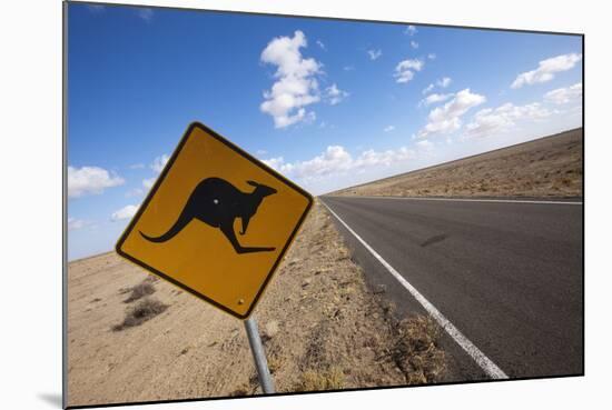
[[386, 260], [383, 259], [366, 241], [362, 239], [340, 217], [336, 214], [325, 202], [322, 203], [336, 219], [355, 237], [357, 240], [385, 267], [391, 274], [425, 308], [425, 310], [435, 319], [435, 321], [453, 338], [453, 340], [463, 349], [484, 372], [492, 379], [507, 379], [507, 374], [488, 359], [474, 343], [472, 343], [453, 323], [448, 321], [415, 287], [413, 287], [399, 272], [395, 270]]

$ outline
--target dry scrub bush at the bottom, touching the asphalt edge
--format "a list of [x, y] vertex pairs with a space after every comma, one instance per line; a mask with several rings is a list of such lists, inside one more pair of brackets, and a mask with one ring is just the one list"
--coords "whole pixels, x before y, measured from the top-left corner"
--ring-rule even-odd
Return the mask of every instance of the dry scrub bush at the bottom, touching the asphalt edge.
[[441, 327], [430, 317], [414, 316], [402, 320], [391, 348], [391, 358], [408, 384], [440, 381], [446, 370], [446, 357], [438, 347]]

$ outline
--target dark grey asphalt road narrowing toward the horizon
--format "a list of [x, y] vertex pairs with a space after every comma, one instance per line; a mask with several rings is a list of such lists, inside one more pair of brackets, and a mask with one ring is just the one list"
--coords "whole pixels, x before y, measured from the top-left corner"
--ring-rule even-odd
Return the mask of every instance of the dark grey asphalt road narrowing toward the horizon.
[[[510, 378], [583, 373], [582, 204], [320, 199]], [[422, 309], [337, 226], [374, 289]], [[486, 379], [448, 339], [453, 379]]]

